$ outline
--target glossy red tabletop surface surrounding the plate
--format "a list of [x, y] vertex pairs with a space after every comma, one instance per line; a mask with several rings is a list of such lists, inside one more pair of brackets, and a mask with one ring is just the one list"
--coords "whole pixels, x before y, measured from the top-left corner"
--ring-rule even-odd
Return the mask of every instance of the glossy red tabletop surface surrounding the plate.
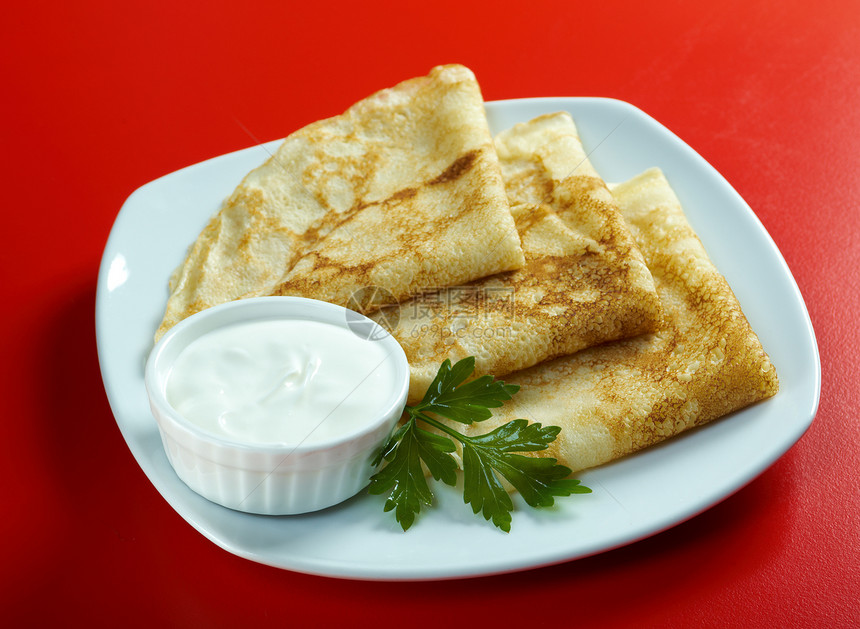
[[[0, 618], [9, 626], [424, 626], [435, 617], [472, 626], [488, 618], [860, 625], [860, 6], [359, 4], [4, 10]], [[108, 407], [94, 296], [114, 217], [151, 179], [283, 137], [455, 61], [475, 71], [487, 100], [629, 101], [723, 173], [806, 300], [823, 370], [818, 416], [723, 503], [580, 561], [379, 584], [239, 559], [162, 500]]]

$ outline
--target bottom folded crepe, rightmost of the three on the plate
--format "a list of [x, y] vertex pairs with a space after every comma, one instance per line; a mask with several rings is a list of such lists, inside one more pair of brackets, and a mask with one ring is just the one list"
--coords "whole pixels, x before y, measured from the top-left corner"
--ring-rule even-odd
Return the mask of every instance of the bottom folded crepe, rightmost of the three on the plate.
[[[615, 186], [654, 276], [664, 323], [649, 335], [505, 380], [520, 392], [473, 433], [523, 417], [561, 426], [545, 453], [574, 471], [606, 463], [775, 395], [776, 370], [663, 174]], [[544, 454], [544, 453], [542, 453]]]

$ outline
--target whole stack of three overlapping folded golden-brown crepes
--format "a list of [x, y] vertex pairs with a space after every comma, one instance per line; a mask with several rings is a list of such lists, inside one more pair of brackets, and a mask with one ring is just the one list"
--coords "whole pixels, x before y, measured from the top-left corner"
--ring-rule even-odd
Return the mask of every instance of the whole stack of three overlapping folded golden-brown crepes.
[[[776, 372], [660, 171], [610, 188], [567, 113], [491, 137], [441, 66], [289, 136], [210, 220], [156, 338], [204, 308], [299, 295], [387, 326], [410, 401], [446, 358], [521, 385], [544, 454], [605, 463], [774, 395]], [[462, 429], [462, 427], [459, 427]]]

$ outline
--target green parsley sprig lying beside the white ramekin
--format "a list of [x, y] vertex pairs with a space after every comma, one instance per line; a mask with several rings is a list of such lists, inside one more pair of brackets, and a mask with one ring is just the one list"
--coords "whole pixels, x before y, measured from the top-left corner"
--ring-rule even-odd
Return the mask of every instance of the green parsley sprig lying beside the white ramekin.
[[[532, 507], [552, 506], [556, 496], [591, 492], [578, 480], [567, 478], [570, 469], [558, 465], [555, 459], [517, 454], [545, 450], [561, 431], [558, 426], [515, 419], [489, 433], [470, 437], [434, 417], [467, 425], [484, 421], [492, 417], [491, 408], [500, 407], [519, 391], [519, 386], [492, 376], [465, 382], [474, 370], [473, 356], [453, 366], [445, 360], [424, 399], [406, 407], [409, 419], [391, 435], [374, 461], [375, 465], [383, 460], [386, 464], [371, 477], [369, 492], [390, 492], [384, 510], [394, 510], [404, 531], [412, 526], [422, 505], [433, 503], [422, 463], [437, 481], [456, 485], [458, 465], [451, 453], [457, 448], [452, 439], [462, 448], [464, 502], [475, 514], [481, 513], [505, 532], [511, 530], [514, 505], [499, 476]], [[442, 434], [426, 430], [419, 423]]]

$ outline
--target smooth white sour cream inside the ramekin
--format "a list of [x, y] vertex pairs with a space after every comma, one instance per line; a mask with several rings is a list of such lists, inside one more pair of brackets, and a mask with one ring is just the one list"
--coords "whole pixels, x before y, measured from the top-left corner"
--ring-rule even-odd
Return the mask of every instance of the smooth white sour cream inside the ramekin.
[[320, 445], [379, 417], [395, 386], [383, 343], [315, 321], [216, 329], [180, 353], [167, 400], [201, 428], [256, 445]]

